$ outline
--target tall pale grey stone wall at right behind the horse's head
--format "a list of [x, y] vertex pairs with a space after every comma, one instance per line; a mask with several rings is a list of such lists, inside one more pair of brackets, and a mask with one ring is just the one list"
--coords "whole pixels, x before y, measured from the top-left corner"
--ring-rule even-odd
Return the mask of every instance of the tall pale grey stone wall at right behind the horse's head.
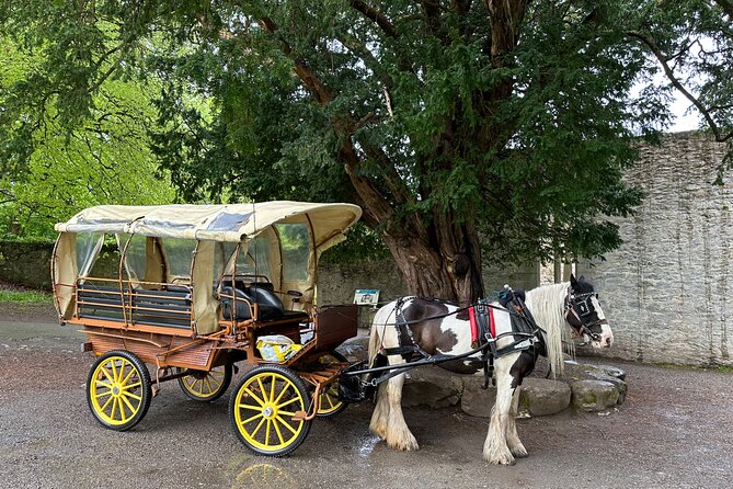
[[579, 265], [611, 321], [609, 356], [733, 365], [733, 184], [711, 184], [724, 151], [701, 136], [668, 135], [627, 173], [646, 198], [617, 221], [623, 246]]

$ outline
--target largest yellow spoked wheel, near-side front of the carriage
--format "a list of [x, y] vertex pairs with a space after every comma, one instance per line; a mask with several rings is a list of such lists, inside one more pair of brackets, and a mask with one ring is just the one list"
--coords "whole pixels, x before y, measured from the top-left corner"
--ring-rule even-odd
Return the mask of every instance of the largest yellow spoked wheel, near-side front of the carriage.
[[283, 456], [302, 443], [310, 421], [293, 419], [307, 411], [308, 391], [302, 379], [280, 365], [257, 366], [238, 383], [229, 413], [239, 440], [260, 455]]

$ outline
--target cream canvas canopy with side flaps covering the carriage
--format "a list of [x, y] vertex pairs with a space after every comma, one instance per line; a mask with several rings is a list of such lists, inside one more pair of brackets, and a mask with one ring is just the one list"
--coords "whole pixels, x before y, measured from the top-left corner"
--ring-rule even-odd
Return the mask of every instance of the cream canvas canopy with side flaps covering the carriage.
[[[362, 209], [352, 204], [319, 204], [288, 201], [274, 201], [256, 204], [229, 205], [160, 205], [160, 206], [119, 206], [101, 205], [87, 208], [66, 223], [56, 225], [59, 231], [54, 257], [54, 283], [76, 284], [84, 278], [92, 262], [99, 254], [104, 235], [147, 237], [142, 282], [167, 282], [165, 276], [152, 276], [151, 271], [160, 266], [165, 253], [167, 240], [196, 240], [198, 248], [194, 260], [191, 282], [194, 284], [193, 309], [198, 333], [208, 333], [217, 329], [216, 307], [218, 303], [211, 296], [210, 284], [215, 276], [216, 242], [239, 244], [240, 257], [268, 254], [264, 259], [270, 278], [278, 289], [297, 289], [306, 300], [313, 298], [316, 266], [320, 254], [344, 239], [343, 234], [362, 215]], [[300, 258], [296, 268], [300, 274], [288, 272], [286, 260], [294, 253], [287, 252], [287, 227], [297, 228], [302, 237], [307, 236], [307, 255]], [[294, 231], [294, 229], [290, 229]], [[283, 236], [282, 236], [283, 235]], [[161, 241], [162, 240], [162, 241]], [[260, 242], [259, 248], [249, 250], [250, 243]], [[161, 248], [162, 242], [162, 248]], [[122, 242], [121, 242], [122, 248]], [[263, 253], [263, 251], [265, 253]], [[146, 260], [144, 260], [145, 262]], [[230, 260], [228, 273], [237, 264]], [[127, 273], [129, 264], [126, 262]], [[293, 264], [289, 266], [294, 268]], [[131, 278], [131, 277], [130, 277]], [[197, 286], [197, 284], [202, 284]], [[145, 286], [145, 285], [142, 285]], [[68, 286], [57, 289], [59, 314], [68, 318], [73, 311], [73, 288]]]

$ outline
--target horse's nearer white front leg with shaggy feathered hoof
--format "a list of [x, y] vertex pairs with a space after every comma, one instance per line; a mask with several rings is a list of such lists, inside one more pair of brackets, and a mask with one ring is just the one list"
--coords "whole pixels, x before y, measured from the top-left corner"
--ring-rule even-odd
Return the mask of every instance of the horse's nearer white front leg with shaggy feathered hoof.
[[491, 464], [513, 465], [514, 456], [506, 444], [506, 432], [512, 408], [511, 365], [514, 364], [518, 354], [509, 354], [496, 359], [496, 403], [491, 412], [491, 423], [486, 441], [483, 443], [483, 458]]

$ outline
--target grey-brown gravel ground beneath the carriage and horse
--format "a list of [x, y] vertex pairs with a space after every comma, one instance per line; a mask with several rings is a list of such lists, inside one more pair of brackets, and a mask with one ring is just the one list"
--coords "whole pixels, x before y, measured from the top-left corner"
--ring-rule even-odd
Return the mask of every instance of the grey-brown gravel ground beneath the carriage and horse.
[[[228, 395], [213, 403], [163, 384], [131, 431], [104, 430], [84, 382], [92, 364], [72, 328], [43, 307], [0, 304], [0, 487], [7, 488], [627, 488], [733, 485], [733, 375], [610, 362], [628, 373], [619, 409], [518, 422], [529, 457], [481, 459], [488, 420], [458, 409], [405, 409], [419, 452], [368, 431], [371, 405], [317, 420], [286, 458], [236, 439]], [[609, 362], [604, 361], [608, 364]]]

